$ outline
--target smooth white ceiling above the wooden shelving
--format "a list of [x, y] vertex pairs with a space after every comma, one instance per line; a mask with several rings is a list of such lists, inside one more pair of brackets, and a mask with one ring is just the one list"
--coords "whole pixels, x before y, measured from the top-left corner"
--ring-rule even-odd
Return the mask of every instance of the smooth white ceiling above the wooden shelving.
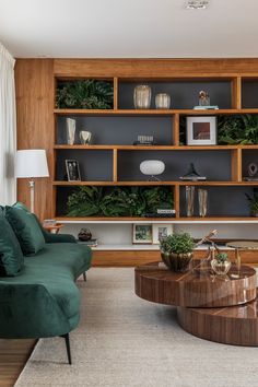
[[258, 57], [258, 0], [0, 0], [15, 57]]

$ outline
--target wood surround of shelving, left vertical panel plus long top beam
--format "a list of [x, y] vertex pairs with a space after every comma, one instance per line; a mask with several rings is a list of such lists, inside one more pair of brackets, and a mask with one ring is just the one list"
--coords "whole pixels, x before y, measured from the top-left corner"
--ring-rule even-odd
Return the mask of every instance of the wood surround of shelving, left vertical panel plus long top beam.
[[[55, 77], [258, 77], [258, 59], [17, 59], [15, 64], [17, 149], [46, 149], [54, 176]], [[35, 212], [52, 211], [51, 178], [36, 181]], [[19, 180], [19, 200], [28, 204], [27, 180]]]

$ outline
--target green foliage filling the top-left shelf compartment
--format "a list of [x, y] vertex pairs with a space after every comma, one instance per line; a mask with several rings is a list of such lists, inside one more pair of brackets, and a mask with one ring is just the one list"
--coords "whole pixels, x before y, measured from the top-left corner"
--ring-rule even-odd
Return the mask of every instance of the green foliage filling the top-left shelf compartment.
[[75, 80], [57, 86], [56, 105], [70, 109], [113, 108], [113, 83], [96, 80]]

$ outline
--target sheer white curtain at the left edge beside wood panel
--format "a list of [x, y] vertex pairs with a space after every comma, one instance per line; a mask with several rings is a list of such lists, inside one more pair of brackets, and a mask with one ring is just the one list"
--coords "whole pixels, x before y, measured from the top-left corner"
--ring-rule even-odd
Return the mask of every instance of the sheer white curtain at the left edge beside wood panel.
[[16, 200], [14, 63], [14, 58], [0, 43], [0, 206], [12, 204]]

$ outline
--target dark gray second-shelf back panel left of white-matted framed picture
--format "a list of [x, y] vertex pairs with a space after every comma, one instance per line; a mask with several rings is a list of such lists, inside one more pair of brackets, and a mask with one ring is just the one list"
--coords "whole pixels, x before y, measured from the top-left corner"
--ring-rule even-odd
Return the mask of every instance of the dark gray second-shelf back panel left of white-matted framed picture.
[[[159, 145], [173, 144], [172, 117], [82, 117], [77, 120], [75, 143], [81, 130], [92, 132], [92, 144], [132, 145], [137, 136], [154, 136]], [[66, 117], [58, 117], [57, 143], [66, 144]]]

